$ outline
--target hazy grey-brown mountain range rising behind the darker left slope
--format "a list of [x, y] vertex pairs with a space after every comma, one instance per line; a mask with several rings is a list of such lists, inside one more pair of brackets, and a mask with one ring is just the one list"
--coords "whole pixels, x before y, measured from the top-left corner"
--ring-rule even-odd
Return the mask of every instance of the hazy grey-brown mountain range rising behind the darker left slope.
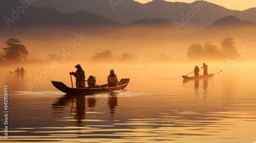
[[[116, 2], [110, 4], [110, 2]], [[129, 23], [134, 20], [144, 18], [163, 18], [171, 22], [181, 22], [182, 14], [187, 15], [189, 11], [193, 11], [193, 7], [197, 7], [200, 3], [205, 5], [200, 7], [194, 18], [190, 19], [186, 24], [186, 28], [190, 30], [202, 30], [203, 28], [214, 23], [216, 20], [234, 16], [242, 21], [252, 21], [256, 23], [256, 8], [245, 11], [229, 10], [216, 4], [196, 1], [194, 3], [165, 2], [164, 0], [154, 0], [152, 2], [141, 4], [133, 0], [119, 1], [116, 0], [37, 0], [34, 4], [39, 7], [49, 6], [56, 8], [62, 12], [75, 12], [77, 10], [85, 10], [95, 14], [102, 15], [121, 23]]]

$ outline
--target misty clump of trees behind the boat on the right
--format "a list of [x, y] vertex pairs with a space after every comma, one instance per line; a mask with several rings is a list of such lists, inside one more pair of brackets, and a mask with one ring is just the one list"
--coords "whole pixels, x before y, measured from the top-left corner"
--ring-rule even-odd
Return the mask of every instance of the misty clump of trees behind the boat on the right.
[[226, 58], [233, 53], [237, 54], [237, 48], [234, 46], [234, 38], [227, 37], [222, 40], [221, 48], [209, 41], [204, 44], [191, 44], [188, 47], [187, 56], [193, 60], [202, 58], [220, 59]]

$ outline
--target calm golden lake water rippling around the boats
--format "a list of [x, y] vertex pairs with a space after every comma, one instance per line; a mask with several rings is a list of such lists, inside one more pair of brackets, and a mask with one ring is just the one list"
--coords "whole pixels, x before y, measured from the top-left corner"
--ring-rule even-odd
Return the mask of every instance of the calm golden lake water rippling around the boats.
[[[9, 73], [11, 67], [1, 69], [0, 142], [256, 142], [253, 62], [227, 65], [225, 72], [198, 80], [181, 78], [195, 64], [148, 64], [133, 73], [123, 92], [67, 96], [50, 81], [71, 87], [68, 73], [76, 64], [60, 65], [38, 84], [35, 75], [44, 71], [42, 65], [27, 66], [25, 74]], [[220, 71], [225, 63], [220, 65], [208, 63], [209, 73]], [[133, 64], [114, 66], [119, 67], [118, 79], [122, 73], [129, 75], [127, 67], [133, 68]], [[109, 66], [83, 69], [87, 78], [95, 73], [98, 84], [106, 83], [110, 70]], [[28, 82], [36, 88], [29, 89]], [[8, 139], [3, 135], [6, 84]]]

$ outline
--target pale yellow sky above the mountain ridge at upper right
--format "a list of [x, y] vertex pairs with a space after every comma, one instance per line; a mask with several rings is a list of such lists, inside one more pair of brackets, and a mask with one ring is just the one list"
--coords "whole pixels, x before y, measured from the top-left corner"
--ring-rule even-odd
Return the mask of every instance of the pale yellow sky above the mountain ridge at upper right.
[[[152, 0], [135, 0], [139, 3], [147, 3], [151, 2]], [[184, 3], [193, 3], [196, 0], [164, 0], [168, 2], [184, 2]], [[256, 8], [256, 1], [255, 0], [206, 0], [209, 3], [214, 3], [219, 6], [223, 6], [227, 9], [231, 10], [246, 10], [249, 8]]]

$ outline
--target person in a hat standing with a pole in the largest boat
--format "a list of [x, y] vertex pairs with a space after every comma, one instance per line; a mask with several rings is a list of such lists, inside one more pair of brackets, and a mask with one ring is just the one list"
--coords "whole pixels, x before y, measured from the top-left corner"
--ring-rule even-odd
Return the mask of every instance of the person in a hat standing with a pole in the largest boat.
[[76, 88], [86, 87], [86, 81], [84, 81], [84, 79], [86, 79], [86, 75], [85, 75], [84, 71], [82, 70], [82, 68], [79, 64], [77, 64], [75, 66], [75, 68], [77, 69], [77, 71], [70, 72], [69, 74], [74, 75], [76, 77]]

